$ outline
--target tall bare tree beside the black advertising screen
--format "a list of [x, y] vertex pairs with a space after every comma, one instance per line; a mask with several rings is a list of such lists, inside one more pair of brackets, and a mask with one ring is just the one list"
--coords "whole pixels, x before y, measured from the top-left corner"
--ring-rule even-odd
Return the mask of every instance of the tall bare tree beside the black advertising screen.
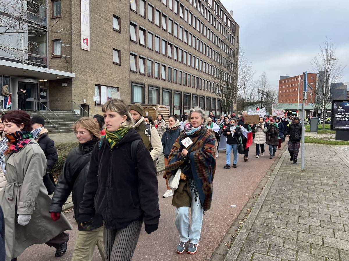
[[326, 37], [320, 52], [314, 57], [311, 64], [319, 72], [318, 85], [315, 90], [315, 109], [322, 111], [322, 128], [325, 128], [326, 107], [331, 102], [331, 83], [339, 82], [343, 75], [342, 63], [336, 58], [336, 47], [331, 39]]

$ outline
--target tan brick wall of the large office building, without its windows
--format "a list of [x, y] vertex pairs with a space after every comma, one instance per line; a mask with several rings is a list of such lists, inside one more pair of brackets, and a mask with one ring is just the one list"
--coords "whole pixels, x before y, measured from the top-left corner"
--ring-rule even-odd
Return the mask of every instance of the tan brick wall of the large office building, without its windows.
[[[136, 0], [134, 0], [136, 1]], [[173, 30], [172, 34], [168, 31], [169, 18], [174, 22], [178, 23], [178, 33], [179, 26], [183, 27], [183, 38], [184, 38], [184, 30], [192, 33], [196, 37], [200, 38], [202, 41], [202, 45], [208, 45], [210, 48], [218, 51], [219, 47], [211, 42], [207, 37], [201, 34], [200, 31], [193, 28], [193, 26], [189, 25], [188, 22], [184, 20], [184, 18], [180, 17], [180, 6], [183, 5], [183, 15], [185, 12], [185, 8], [188, 10], [188, 14], [192, 13], [192, 15], [196, 16], [197, 19], [206, 25], [213, 33], [219, 37], [219, 39], [224, 40], [224, 42], [229, 41], [225, 39], [222, 33], [220, 33], [216, 28], [207, 21], [207, 19], [201, 15], [201, 12], [195, 9], [189, 2], [178, 1], [178, 15], [174, 13], [169, 8], [169, 0], [167, 1], [159, 1], [159, 0], [148, 0], [145, 1], [145, 18], [140, 15], [140, 1], [137, 0], [137, 12], [134, 12], [130, 8], [129, 1], [90, 1], [90, 51], [86, 51], [81, 49], [81, 15], [80, 15], [80, 0], [62, 0], [62, 23], [57, 23], [53, 26], [53, 31], [58, 31], [58, 26], [62, 26], [64, 28], [69, 28], [71, 26], [71, 30], [68, 30], [66, 33], [49, 33], [49, 56], [52, 56], [52, 40], [54, 39], [62, 39], [62, 44], [69, 45], [68, 47], [62, 46], [61, 53], [62, 55], [70, 56], [70, 57], [58, 57], [51, 58], [49, 60], [49, 67], [52, 69], [69, 71], [75, 73], [75, 78], [71, 79], [71, 81], [67, 80], [54, 80], [49, 82], [50, 86], [50, 109], [54, 110], [70, 110], [71, 102], [74, 101], [78, 104], [84, 104], [83, 100], [86, 100], [86, 104], [89, 105], [89, 110], [91, 114], [95, 114], [95, 102], [93, 101], [93, 96], [95, 95], [95, 85], [101, 86], [110, 86], [117, 87], [120, 92], [120, 96], [126, 103], [132, 103], [132, 95], [131, 95], [131, 84], [132, 82], [136, 82], [144, 85], [144, 100], [142, 103], [148, 104], [148, 88], [149, 86], [154, 86], [158, 88], [158, 100], [159, 104], [162, 104], [162, 90], [171, 90], [171, 113], [173, 113], [173, 105], [174, 105], [174, 92], [181, 92], [181, 110], [180, 113], [183, 113], [183, 102], [184, 102], [184, 93], [190, 94], [190, 107], [192, 106], [193, 95], [198, 95], [198, 97], [206, 97], [210, 98], [209, 106], [205, 106], [207, 109], [212, 110], [212, 101], [215, 100], [216, 108], [217, 108], [217, 96], [211, 88], [211, 91], [202, 90], [199, 88], [188, 87], [183, 84], [178, 83], [178, 73], [179, 70], [182, 73], [186, 72], [191, 75], [198, 76], [199, 78], [205, 79], [207, 81], [212, 81], [212, 77], [208, 73], [196, 70], [193, 67], [188, 66], [183, 62], [179, 62], [179, 58], [174, 60], [173, 58], [168, 56], [168, 42], [172, 44], [172, 48], [174, 46], [178, 47], [177, 56], [179, 54], [179, 49], [183, 49], [187, 51], [188, 54], [195, 55], [196, 57], [200, 57], [203, 62], [207, 62], [212, 66], [217, 66], [216, 61], [205, 55], [204, 53], [194, 49], [192, 46], [189, 46], [187, 43], [181, 41], [178, 38], [174, 37]], [[164, 5], [163, 2], [166, 2]], [[191, 1], [192, 2], [192, 1]], [[214, 5], [215, 1], [211, 1]], [[153, 9], [153, 21], [151, 23], [148, 21], [147, 11], [148, 11], [148, 3], [154, 6]], [[199, 1], [200, 3], [200, 1]], [[49, 1], [49, 10], [51, 10], [52, 2]], [[175, 0], [172, 0], [172, 9], [174, 9]], [[234, 50], [236, 61], [238, 60], [238, 35], [239, 35], [239, 26], [229, 15], [228, 11], [221, 5], [221, 3], [217, 2], [218, 6], [221, 7], [223, 15], [222, 19], [218, 18], [219, 16], [219, 7], [218, 13], [215, 14], [214, 7], [211, 9], [206, 2], [200, 3], [204, 8], [206, 7], [217, 21], [220, 21], [221, 26], [224, 26], [225, 29], [231, 34], [234, 35], [235, 38], [233, 44], [229, 43], [229, 46]], [[201, 8], [201, 6], [200, 6]], [[155, 9], [161, 11], [160, 14], [160, 26], [155, 25]], [[232, 32], [228, 28], [227, 25], [224, 25], [224, 13], [227, 15], [227, 19], [234, 24], [234, 31]], [[50, 12], [49, 12], [50, 14]], [[166, 15], [166, 26], [167, 30], [162, 29], [162, 14]], [[207, 13], [206, 13], [207, 14]], [[113, 15], [120, 17], [120, 32], [113, 30]], [[60, 18], [58, 18], [60, 19]], [[63, 21], [64, 20], [64, 21]], [[49, 27], [56, 21], [56, 19], [51, 19], [49, 21]], [[130, 40], [130, 21], [137, 25], [136, 27], [136, 36], [137, 42], [133, 42]], [[226, 20], [228, 21], [228, 20]], [[201, 26], [200, 22], [200, 26]], [[140, 27], [141, 26], [141, 27]], [[139, 29], [145, 29], [145, 46], [140, 44], [140, 35]], [[205, 27], [203, 27], [205, 30]], [[147, 47], [147, 32], [150, 31], [153, 33], [153, 50]], [[206, 30], [207, 31], [207, 30]], [[223, 31], [222, 31], [223, 32]], [[166, 56], [162, 55], [161, 52], [157, 53], [154, 50], [155, 45], [155, 35], [158, 35], [161, 39], [166, 40]], [[193, 41], [193, 38], [192, 38]], [[161, 47], [161, 41], [160, 41]], [[120, 65], [113, 63], [113, 48], [120, 50]], [[137, 72], [132, 72], [130, 70], [130, 52], [137, 54]], [[139, 58], [145, 58], [145, 74], [139, 73]], [[173, 57], [173, 49], [172, 49], [172, 57]], [[153, 60], [153, 77], [147, 76], [147, 59]], [[200, 61], [199, 59], [199, 61]], [[182, 58], [183, 60], [183, 58]], [[166, 65], [166, 80], [161, 79], [161, 68], [160, 68], [160, 79], [156, 79], [154, 77], [154, 65], [155, 62], [159, 62], [160, 64]], [[167, 73], [168, 66], [172, 67], [172, 81], [168, 81]], [[160, 66], [161, 67], [161, 66]], [[208, 67], [209, 68], [209, 67]], [[173, 70], [177, 71], [177, 83], [173, 82]], [[200, 68], [199, 68], [200, 69]], [[206, 71], [206, 70], [205, 70]], [[187, 74], [187, 75], [188, 75]], [[182, 74], [183, 78], [183, 74]], [[183, 80], [183, 79], [182, 79]], [[62, 82], [68, 82], [68, 87], [61, 87]], [[57, 100], [59, 98], [59, 101]], [[101, 113], [101, 106], [98, 106], [98, 113]]]

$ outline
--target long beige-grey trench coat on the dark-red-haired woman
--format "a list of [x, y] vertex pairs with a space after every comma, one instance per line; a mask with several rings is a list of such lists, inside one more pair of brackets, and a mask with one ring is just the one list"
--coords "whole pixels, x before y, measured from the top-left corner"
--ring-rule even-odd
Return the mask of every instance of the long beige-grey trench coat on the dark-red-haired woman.
[[[0, 205], [5, 217], [6, 261], [21, 255], [25, 248], [43, 244], [65, 230], [72, 230], [66, 217], [51, 219], [51, 198], [43, 182], [46, 157], [36, 141], [20, 151], [5, 156], [7, 184], [0, 191]], [[17, 223], [18, 214], [30, 214], [26, 226]]]

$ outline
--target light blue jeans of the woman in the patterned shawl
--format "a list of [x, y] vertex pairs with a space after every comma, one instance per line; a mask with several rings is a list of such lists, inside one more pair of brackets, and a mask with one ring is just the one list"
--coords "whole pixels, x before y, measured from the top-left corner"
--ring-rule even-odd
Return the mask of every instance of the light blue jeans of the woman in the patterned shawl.
[[201, 235], [201, 226], [203, 218], [203, 208], [200, 204], [199, 196], [194, 199], [193, 191], [190, 191], [192, 195], [192, 215], [191, 225], [189, 225], [189, 207], [176, 207], [176, 228], [179, 232], [179, 241], [198, 244]]

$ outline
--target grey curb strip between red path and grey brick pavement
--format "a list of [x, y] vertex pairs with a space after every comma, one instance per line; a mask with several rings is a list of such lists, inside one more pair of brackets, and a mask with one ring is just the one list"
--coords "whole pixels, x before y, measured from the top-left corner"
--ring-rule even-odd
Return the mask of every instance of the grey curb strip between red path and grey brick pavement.
[[[287, 146], [285, 146], [286, 148]], [[238, 258], [238, 255], [240, 253], [240, 249], [242, 247], [242, 245], [244, 244], [245, 242], [245, 239], [248, 235], [248, 233], [250, 232], [251, 230], [251, 227], [257, 217], [257, 214], [259, 212], [259, 210], [261, 209], [262, 207], [262, 204], [264, 202], [264, 199], [266, 198], [268, 192], [269, 192], [269, 189], [275, 179], [275, 176], [277, 174], [277, 172], [279, 171], [280, 169], [280, 166], [284, 160], [284, 158], [286, 157], [287, 155], [287, 150], [285, 150], [283, 153], [282, 153], [282, 156], [279, 160], [279, 162], [277, 163], [275, 169], [273, 170], [273, 173], [270, 175], [269, 177], [269, 180], [267, 182], [267, 184], [265, 185], [263, 191], [261, 192], [258, 200], [256, 201], [254, 207], [252, 208], [252, 211], [250, 213], [250, 215], [248, 215], [248, 218], [243, 226], [243, 228], [240, 230], [237, 238], [235, 239], [233, 245], [230, 247], [230, 250], [227, 254], [227, 256], [225, 256], [225, 259], [224, 261], [234, 261]]]

